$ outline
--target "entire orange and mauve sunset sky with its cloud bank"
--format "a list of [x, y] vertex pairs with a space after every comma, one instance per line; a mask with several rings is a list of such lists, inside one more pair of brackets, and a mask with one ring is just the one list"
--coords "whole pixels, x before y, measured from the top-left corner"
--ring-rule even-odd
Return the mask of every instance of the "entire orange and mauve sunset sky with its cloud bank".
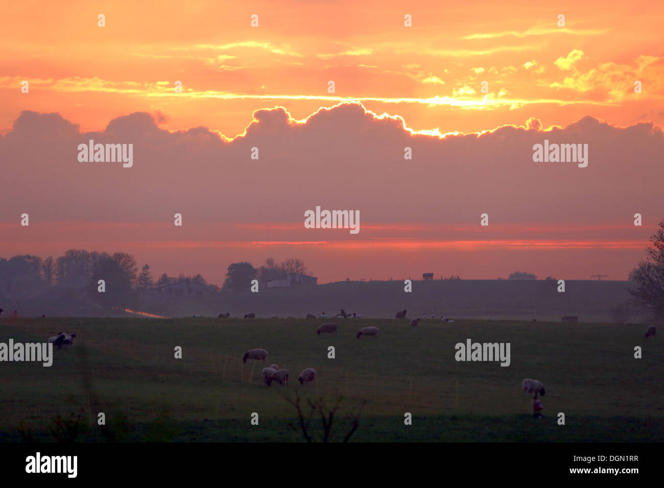
[[[6, 2], [0, 257], [623, 280], [664, 218], [663, 24], [661, 2]], [[79, 162], [88, 139], [133, 167]], [[588, 167], [533, 162], [544, 139]], [[317, 205], [361, 232], [305, 229]]]

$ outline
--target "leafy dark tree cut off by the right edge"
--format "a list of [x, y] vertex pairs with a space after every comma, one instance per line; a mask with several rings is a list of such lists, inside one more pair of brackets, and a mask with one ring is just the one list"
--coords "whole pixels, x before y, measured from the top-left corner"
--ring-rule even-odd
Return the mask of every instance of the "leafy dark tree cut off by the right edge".
[[659, 230], [650, 238], [645, 261], [629, 273], [633, 286], [629, 293], [637, 309], [641, 309], [655, 321], [664, 319], [664, 220], [659, 222]]

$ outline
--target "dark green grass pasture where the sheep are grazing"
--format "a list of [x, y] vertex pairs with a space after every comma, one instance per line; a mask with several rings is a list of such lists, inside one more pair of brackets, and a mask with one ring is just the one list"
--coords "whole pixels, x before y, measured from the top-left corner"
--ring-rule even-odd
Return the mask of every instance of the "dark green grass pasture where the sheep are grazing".
[[[303, 441], [284, 396], [341, 396], [332, 440], [349, 430], [366, 442], [664, 441], [663, 339], [643, 339], [645, 325], [421, 321], [339, 321], [339, 334], [318, 336], [325, 320], [0, 319], [0, 342], [44, 342], [60, 330], [74, 347], [41, 363], [0, 363], [0, 440], [54, 441], [54, 419], [80, 415], [79, 441]], [[327, 319], [329, 321], [329, 319]], [[361, 327], [380, 337], [355, 338]], [[454, 346], [511, 343], [511, 365], [457, 362]], [[643, 348], [643, 359], [633, 357]], [[183, 359], [174, 348], [183, 348]], [[336, 358], [327, 358], [334, 346]], [[290, 385], [267, 387], [262, 362], [242, 365], [247, 349], [290, 371]], [[300, 386], [313, 367], [318, 380]], [[253, 370], [253, 374], [252, 374]], [[523, 378], [544, 383], [544, 419], [535, 420]], [[251, 381], [251, 384], [250, 384]], [[106, 414], [106, 428], [97, 425]], [[258, 426], [250, 424], [252, 412]], [[404, 425], [404, 413], [412, 425]], [[564, 412], [564, 426], [557, 424]], [[92, 428], [90, 428], [92, 424]], [[19, 426], [21, 428], [19, 429]], [[311, 434], [322, 429], [317, 416]]]

